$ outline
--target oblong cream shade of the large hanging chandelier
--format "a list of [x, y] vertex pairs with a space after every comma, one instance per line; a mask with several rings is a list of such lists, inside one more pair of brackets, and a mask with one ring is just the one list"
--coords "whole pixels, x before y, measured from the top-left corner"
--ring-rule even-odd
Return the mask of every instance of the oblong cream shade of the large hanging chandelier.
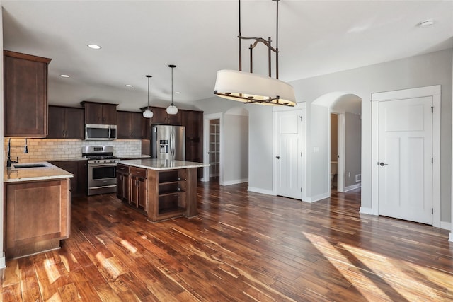
[[214, 94], [243, 103], [263, 105], [296, 105], [294, 88], [278, 79], [246, 71], [223, 69], [217, 71]]

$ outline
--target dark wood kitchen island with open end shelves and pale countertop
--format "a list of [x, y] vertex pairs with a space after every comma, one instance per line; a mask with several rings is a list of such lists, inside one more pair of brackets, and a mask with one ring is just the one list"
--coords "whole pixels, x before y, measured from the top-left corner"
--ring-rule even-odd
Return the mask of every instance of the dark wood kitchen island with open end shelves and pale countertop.
[[197, 216], [197, 168], [206, 166], [151, 158], [119, 161], [117, 197], [152, 222]]

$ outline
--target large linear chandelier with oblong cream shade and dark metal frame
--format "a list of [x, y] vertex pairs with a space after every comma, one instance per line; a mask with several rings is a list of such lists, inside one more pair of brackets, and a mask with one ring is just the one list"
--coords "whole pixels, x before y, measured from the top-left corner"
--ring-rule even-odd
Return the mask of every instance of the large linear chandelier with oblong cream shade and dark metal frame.
[[[230, 100], [238, 100], [246, 104], [263, 105], [296, 105], [294, 88], [284, 81], [278, 79], [278, 2], [277, 3], [277, 37], [275, 48], [268, 40], [262, 37], [243, 37], [241, 35], [241, 0], [239, 0], [239, 71], [223, 69], [217, 71], [217, 79], [214, 86], [214, 95]], [[255, 40], [250, 45], [250, 71], [242, 71], [242, 40]], [[253, 74], [253, 48], [258, 43], [268, 47], [268, 76]], [[271, 52], [275, 52], [275, 79], [271, 76]]]

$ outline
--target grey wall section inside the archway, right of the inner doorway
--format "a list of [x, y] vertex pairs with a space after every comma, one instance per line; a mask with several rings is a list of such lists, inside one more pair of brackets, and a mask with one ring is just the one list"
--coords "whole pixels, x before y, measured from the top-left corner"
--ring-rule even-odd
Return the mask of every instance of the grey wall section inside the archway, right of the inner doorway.
[[360, 115], [345, 112], [345, 189], [357, 185], [355, 175], [360, 174], [361, 156]]

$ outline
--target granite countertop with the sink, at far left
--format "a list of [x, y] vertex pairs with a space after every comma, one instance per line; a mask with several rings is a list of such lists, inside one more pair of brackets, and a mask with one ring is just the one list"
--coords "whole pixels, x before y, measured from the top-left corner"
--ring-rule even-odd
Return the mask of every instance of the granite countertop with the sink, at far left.
[[[23, 163], [25, 164], [25, 163]], [[63, 169], [41, 161], [39, 163], [26, 163], [28, 165], [40, 164], [45, 167], [38, 168], [5, 168], [4, 169], [4, 182], [27, 182], [33, 180], [52, 180], [61, 178], [72, 178], [74, 175]], [[14, 164], [13, 164], [14, 165]], [[21, 165], [19, 163], [18, 165]]]

